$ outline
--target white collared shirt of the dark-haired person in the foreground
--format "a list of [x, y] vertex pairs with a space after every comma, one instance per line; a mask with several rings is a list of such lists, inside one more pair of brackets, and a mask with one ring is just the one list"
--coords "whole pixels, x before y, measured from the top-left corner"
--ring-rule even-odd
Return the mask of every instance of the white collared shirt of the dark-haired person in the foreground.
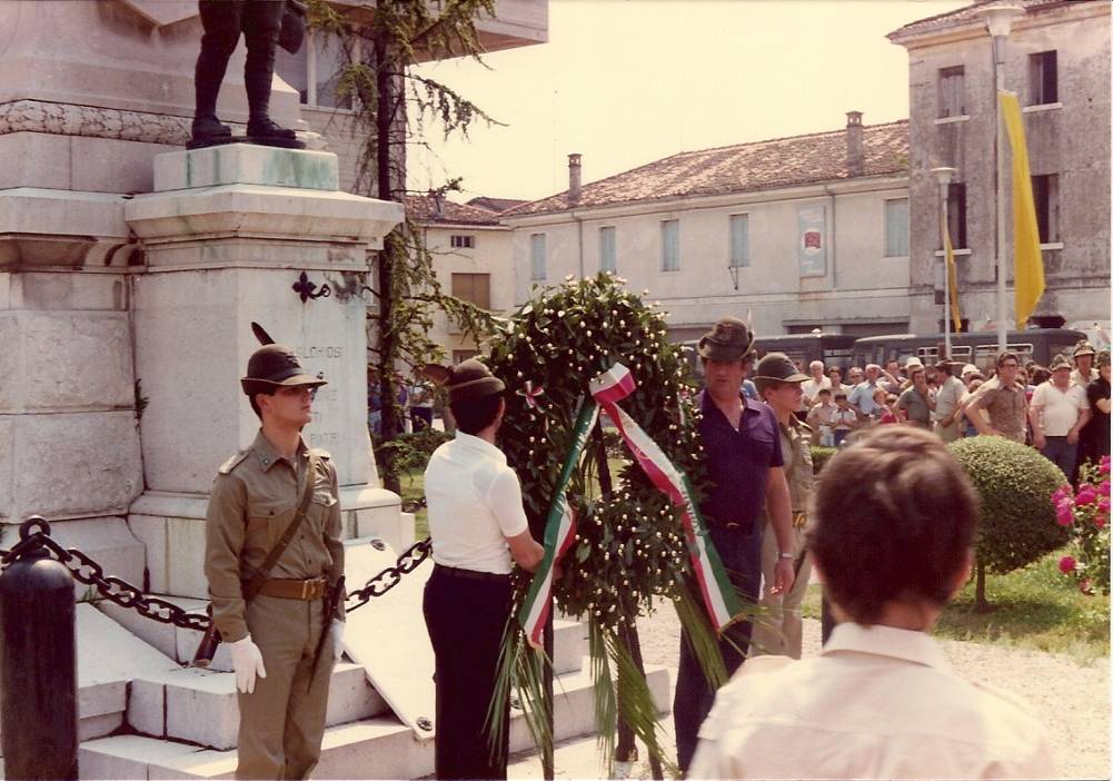
[[1012, 695], [955, 674], [923, 632], [844, 623], [817, 657], [747, 661], [700, 730], [691, 779], [1045, 779]]

